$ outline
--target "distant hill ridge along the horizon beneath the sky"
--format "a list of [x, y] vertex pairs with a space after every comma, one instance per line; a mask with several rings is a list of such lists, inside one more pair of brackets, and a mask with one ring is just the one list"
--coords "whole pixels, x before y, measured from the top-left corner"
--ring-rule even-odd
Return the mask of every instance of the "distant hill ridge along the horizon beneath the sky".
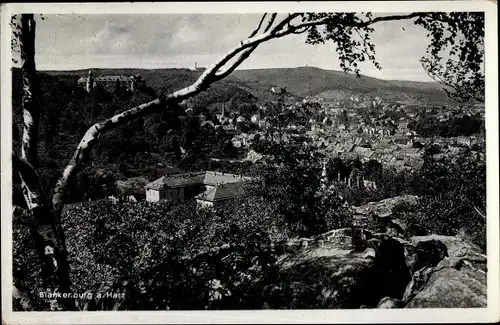
[[[141, 75], [156, 92], [172, 91], [194, 82], [201, 72], [189, 69], [91, 69], [95, 75]], [[65, 80], [87, 75], [88, 70], [44, 71]], [[260, 100], [273, 100], [271, 86], [286, 87], [296, 96], [334, 99], [351, 94], [379, 96], [385, 100], [420, 104], [450, 104], [444, 86], [434, 82], [381, 80], [377, 78], [323, 70], [315, 67], [236, 70], [213, 86], [229, 100], [233, 93], [249, 93]], [[220, 97], [220, 96], [217, 96]]]

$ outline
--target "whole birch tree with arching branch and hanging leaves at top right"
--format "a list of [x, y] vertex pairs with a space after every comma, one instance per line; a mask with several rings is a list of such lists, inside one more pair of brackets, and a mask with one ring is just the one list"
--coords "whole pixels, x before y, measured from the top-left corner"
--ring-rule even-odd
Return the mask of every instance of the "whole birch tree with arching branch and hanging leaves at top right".
[[[154, 112], [176, 110], [179, 105], [194, 95], [208, 89], [212, 84], [230, 75], [244, 62], [257, 47], [270, 40], [291, 34], [307, 34], [310, 44], [333, 41], [337, 45], [341, 68], [359, 74], [358, 62], [371, 61], [376, 67], [374, 45], [370, 41], [373, 24], [383, 21], [415, 19], [430, 34], [434, 35], [429, 46], [431, 54], [439, 53], [454, 38], [446, 38], [444, 32], [456, 36], [463, 32], [467, 41], [459, 42], [452, 47], [451, 55], [460, 54], [460, 62], [467, 62], [465, 68], [473, 74], [474, 80], [464, 84], [462, 79], [456, 80], [458, 89], [481, 92], [484, 76], [479, 72], [484, 50], [484, 26], [477, 13], [410, 13], [405, 15], [386, 15], [373, 17], [370, 13], [291, 13], [285, 15], [264, 14], [255, 30], [248, 38], [242, 40], [221, 59], [210, 65], [191, 85], [182, 89], [165, 92], [158, 98], [127, 109], [123, 112], [92, 124], [83, 134], [73, 156], [58, 177], [57, 183], [50, 193], [44, 192], [38, 176], [38, 131], [40, 123], [39, 79], [35, 67], [35, 18], [33, 14], [22, 14], [14, 17], [13, 47], [19, 48], [20, 63], [23, 73], [23, 119], [24, 129], [21, 144], [21, 155], [13, 152], [13, 168], [18, 173], [26, 209], [14, 208], [14, 220], [27, 225], [33, 235], [35, 250], [42, 264], [43, 286], [51, 292], [70, 292], [69, 265], [67, 261], [66, 239], [61, 227], [61, 212], [67, 200], [69, 184], [75, 179], [90, 160], [91, 151], [102, 135]], [[470, 32], [472, 31], [472, 32]], [[470, 32], [470, 35], [469, 35]], [[474, 33], [473, 33], [474, 32]], [[474, 41], [471, 41], [471, 37]], [[461, 52], [458, 52], [458, 49]], [[434, 61], [438, 56], [434, 55]], [[432, 62], [434, 62], [432, 61]], [[434, 72], [435, 65], [426, 68]], [[445, 66], [448, 68], [448, 66]], [[462, 76], [462, 70], [448, 69], [450, 75]], [[459, 74], [460, 73], [460, 74]], [[482, 81], [481, 81], [482, 80]], [[106, 100], [102, 94], [102, 100]], [[299, 178], [297, 178], [298, 180]], [[52, 309], [74, 309], [70, 299], [55, 299]]]

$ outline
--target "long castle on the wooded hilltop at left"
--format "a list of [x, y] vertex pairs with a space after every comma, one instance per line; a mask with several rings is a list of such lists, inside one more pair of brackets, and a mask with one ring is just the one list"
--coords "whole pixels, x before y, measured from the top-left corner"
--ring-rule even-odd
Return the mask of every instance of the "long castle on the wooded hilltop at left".
[[144, 80], [140, 76], [97, 76], [89, 70], [87, 77], [81, 77], [77, 81], [78, 86], [91, 92], [96, 87], [102, 87], [108, 92], [118, 92], [120, 90], [134, 91], [137, 87], [144, 85]]

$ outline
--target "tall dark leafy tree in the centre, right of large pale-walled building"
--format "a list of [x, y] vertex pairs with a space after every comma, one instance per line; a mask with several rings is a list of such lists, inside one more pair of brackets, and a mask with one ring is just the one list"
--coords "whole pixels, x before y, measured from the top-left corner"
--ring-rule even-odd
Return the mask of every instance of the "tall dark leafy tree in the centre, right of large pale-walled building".
[[349, 225], [343, 202], [324, 186], [324, 155], [306, 141], [302, 131], [287, 128], [301, 115], [301, 108], [288, 109], [282, 104], [276, 109], [270, 127], [251, 147], [264, 157], [262, 165], [253, 170], [259, 179], [253, 194], [272, 202], [296, 235], [310, 236]]

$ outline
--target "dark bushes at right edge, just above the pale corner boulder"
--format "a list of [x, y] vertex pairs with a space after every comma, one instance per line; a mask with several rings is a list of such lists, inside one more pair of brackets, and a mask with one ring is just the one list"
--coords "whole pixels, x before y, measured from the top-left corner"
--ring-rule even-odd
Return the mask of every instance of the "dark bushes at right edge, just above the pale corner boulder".
[[453, 157], [425, 156], [416, 175], [418, 207], [396, 209], [411, 235], [461, 234], [486, 249], [486, 163], [478, 155], [463, 150]]

